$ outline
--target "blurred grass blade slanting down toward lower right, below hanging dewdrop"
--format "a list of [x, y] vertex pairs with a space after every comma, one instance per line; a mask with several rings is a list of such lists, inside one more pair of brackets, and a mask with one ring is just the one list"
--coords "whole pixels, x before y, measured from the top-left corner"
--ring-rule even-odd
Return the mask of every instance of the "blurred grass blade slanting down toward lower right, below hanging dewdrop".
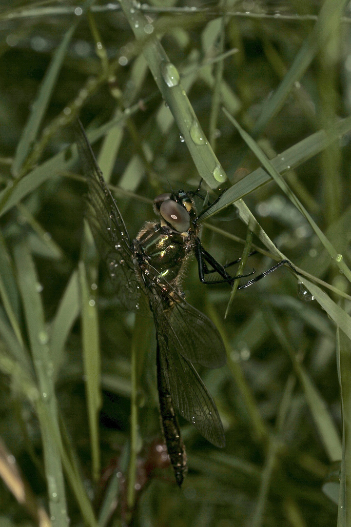
[[277, 317], [267, 306], [267, 304], [265, 305], [265, 316], [267, 317], [267, 321], [270, 324], [273, 334], [278, 339], [280, 345], [282, 345], [282, 347], [286, 350], [290, 360], [293, 363], [295, 374], [302, 385], [308, 407], [313, 416], [315, 425], [320, 435], [320, 440], [324, 445], [329, 460], [339, 460], [342, 453], [342, 443], [323, 397], [320, 395], [312, 379], [310, 379], [304, 366], [298, 360], [295, 350], [290, 344], [288, 337], [285, 335], [285, 332], [281, 327]]

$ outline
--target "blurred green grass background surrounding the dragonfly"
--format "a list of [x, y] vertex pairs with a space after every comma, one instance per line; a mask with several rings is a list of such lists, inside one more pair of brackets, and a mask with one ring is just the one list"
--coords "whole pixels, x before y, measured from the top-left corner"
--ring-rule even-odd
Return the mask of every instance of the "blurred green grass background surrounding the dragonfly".
[[[341, 0], [2, 2], [1, 527], [351, 524], [347, 16]], [[118, 303], [84, 227], [77, 115], [132, 238], [200, 174], [210, 201], [229, 189], [202, 233], [217, 260], [253, 231], [245, 272], [284, 255], [309, 273], [280, 267], [224, 320], [230, 288], [190, 262], [187, 299], [228, 353], [200, 371], [226, 448], [181, 421], [182, 490], [153, 327]]]

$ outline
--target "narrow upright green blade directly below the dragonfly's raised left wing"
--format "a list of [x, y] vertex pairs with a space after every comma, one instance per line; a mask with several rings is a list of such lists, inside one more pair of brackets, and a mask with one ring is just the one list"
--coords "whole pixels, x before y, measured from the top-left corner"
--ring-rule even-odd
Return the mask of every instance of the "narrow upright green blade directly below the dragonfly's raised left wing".
[[92, 451], [92, 475], [100, 475], [99, 411], [101, 398], [101, 358], [95, 291], [88, 285], [85, 260], [79, 261], [79, 290], [82, 298], [82, 344], [84, 379]]

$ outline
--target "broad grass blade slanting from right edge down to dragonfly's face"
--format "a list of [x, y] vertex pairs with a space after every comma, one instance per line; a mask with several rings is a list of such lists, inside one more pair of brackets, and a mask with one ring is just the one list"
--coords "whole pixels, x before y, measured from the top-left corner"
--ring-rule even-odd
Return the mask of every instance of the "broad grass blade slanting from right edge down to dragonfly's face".
[[[284, 173], [286, 170], [299, 167], [300, 164], [313, 158], [314, 155], [322, 152], [330, 142], [338, 141], [340, 136], [350, 130], [351, 117], [347, 117], [338, 121], [331, 130], [319, 130], [309, 135], [306, 139], [299, 141], [293, 147], [271, 159], [270, 162], [278, 172]], [[216, 212], [228, 207], [236, 200], [244, 198], [250, 192], [270, 181], [272, 181], [272, 177], [263, 168], [254, 170], [224, 192], [213, 208], [206, 213], [206, 218], [213, 216]]]

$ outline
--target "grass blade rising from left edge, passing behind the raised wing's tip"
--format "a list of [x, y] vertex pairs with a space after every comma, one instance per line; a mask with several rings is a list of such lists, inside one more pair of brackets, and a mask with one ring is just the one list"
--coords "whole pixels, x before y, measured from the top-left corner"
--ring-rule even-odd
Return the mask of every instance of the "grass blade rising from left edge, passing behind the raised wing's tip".
[[[134, 106], [129, 108], [127, 113], [124, 112], [121, 117], [114, 118], [100, 126], [97, 130], [89, 133], [89, 142], [94, 144], [114, 126], [124, 126], [125, 120], [138, 111], [140, 111], [139, 104], [134, 104]], [[0, 192], [0, 216], [14, 207], [19, 201], [25, 198], [27, 194], [36, 190], [42, 183], [44, 183], [44, 181], [52, 178], [55, 174], [59, 175], [62, 171], [68, 171], [77, 161], [77, 149], [75, 145], [72, 145], [28, 172], [24, 178], [10, 181], [7, 184], [7, 187]]]

